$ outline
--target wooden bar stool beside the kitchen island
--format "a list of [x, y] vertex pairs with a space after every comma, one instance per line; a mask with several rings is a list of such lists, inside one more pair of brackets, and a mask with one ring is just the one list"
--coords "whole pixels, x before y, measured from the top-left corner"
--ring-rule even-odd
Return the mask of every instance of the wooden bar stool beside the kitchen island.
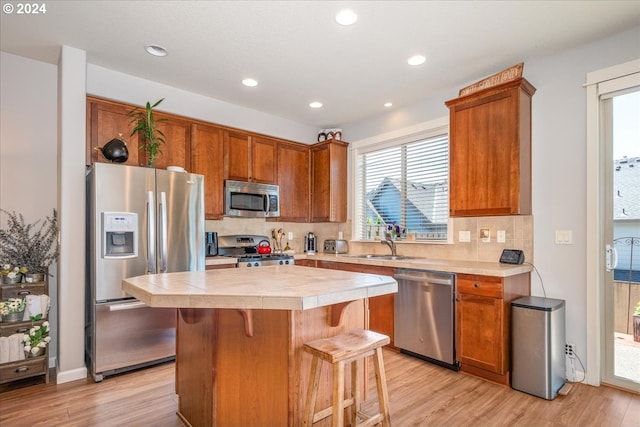
[[[382, 347], [389, 344], [389, 337], [377, 332], [356, 329], [330, 338], [323, 338], [304, 344], [304, 350], [313, 355], [311, 361], [311, 376], [303, 426], [311, 427], [312, 424], [332, 417], [332, 426], [344, 426], [344, 409], [351, 407], [349, 413], [351, 425], [373, 426], [382, 423], [390, 427], [389, 396], [387, 394], [387, 379], [384, 373], [382, 361]], [[369, 356], [374, 356], [376, 373], [376, 385], [378, 389], [379, 412], [375, 415], [366, 415], [360, 412], [360, 372], [362, 363]], [[320, 383], [321, 360], [333, 365], [333, 404], [331, 407], [315, 412], [316, 397]], [[351, 363], [351, 397], [345, 399], [345, 365]], [[358, 423], [358, 419], [362, 419]]]

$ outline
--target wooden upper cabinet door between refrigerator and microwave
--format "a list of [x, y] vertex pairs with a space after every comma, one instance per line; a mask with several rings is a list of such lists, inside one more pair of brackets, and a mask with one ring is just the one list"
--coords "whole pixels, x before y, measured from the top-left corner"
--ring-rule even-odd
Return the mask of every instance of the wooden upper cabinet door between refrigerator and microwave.
[[204, 175], [205, 219], [222, 219], [224, 213], [223, 138], [222, 128], [191, 125], [191, 172]]

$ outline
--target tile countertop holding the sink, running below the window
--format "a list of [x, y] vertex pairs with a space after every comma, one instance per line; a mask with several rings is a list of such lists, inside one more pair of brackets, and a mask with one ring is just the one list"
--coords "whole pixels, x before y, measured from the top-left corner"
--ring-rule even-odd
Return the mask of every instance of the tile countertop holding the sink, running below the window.
[[444, 260], [414, 258], [402, 260], [380, 260], [356, 258], [353, 254], [296, 254], [295, 259], [311, 259], [318, 261], [346, 262], [350, 264], [367, 264], [394, 268], [415, 268], [417, 270], [447, 271], [459, 274], [479, 274], [482, 276], [509, 277], [517, 274], [529, 273], [533, 270], [531, 264], [501, 264], [499, 262], [481, 262], [464, 260]]

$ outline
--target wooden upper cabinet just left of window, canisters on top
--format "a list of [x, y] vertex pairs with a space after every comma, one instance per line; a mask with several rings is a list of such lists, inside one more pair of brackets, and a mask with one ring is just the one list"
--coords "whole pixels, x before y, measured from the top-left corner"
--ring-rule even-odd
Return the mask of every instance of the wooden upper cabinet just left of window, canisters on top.
[[311, 147], [311, 222], [347, 220], [347, 147], [329, 140]]

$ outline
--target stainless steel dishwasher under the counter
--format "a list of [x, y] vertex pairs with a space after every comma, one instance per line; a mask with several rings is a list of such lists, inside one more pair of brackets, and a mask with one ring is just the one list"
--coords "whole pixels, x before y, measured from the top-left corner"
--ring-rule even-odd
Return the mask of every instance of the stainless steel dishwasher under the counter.
[[458, 370], [455, 357], [455, 275], [397, 269], [394, 341], [403, 353]]

